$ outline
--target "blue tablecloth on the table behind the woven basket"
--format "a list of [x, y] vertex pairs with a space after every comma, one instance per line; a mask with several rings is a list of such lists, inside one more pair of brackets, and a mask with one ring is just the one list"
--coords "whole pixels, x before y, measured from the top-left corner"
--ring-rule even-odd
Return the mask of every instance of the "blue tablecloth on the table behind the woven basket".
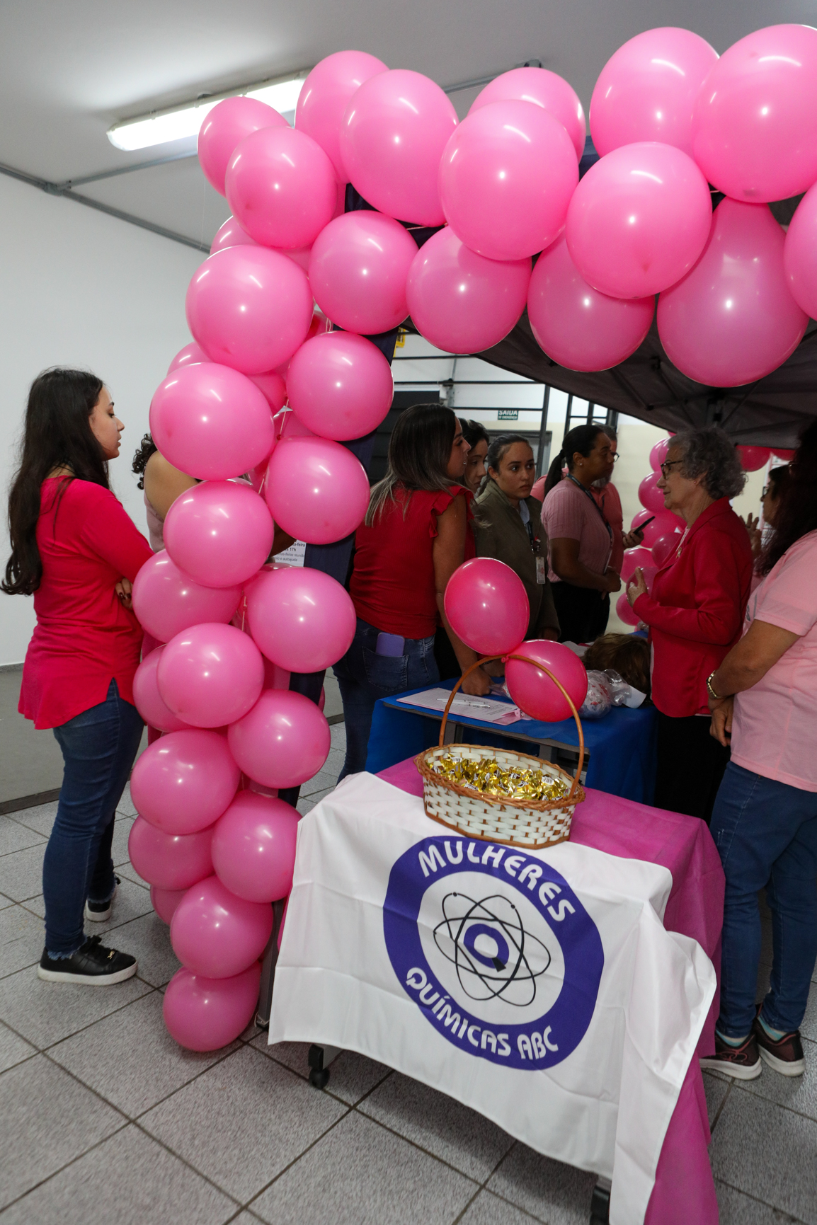
[[[453, 688], [453, 681], [442, 681], [440, 687]], [[423, 688], [408, 690], [407, 693], [421, 693]], [[375, 706], [366, 758], [366, 769], [371, 774], [396, 766], [407, 757], [414, 757], [424, 748], [431, 748], [440, 739], [440, 719], [420, 707], [396, 701], [404, 696], [381, 698]], [[468, 729], [468, 744], [516, 748], [535, 755], [534, 745], [497, 735], [490, 724], [467, 719], [461, 714], [456, 717], [456, 723]], [[572, 719], [565, 719], [563, 723], [525, 719], [518, 728], [534, 740], [557, 740], [578, 747], [578, 733]], [[584, 744], [590, 753], [587, 785], [638, 804], [652, 804], [655, 788], [655, 707], [639, 707], [637, 710], [614, 707], [604, 719], [583, 722], [582, 728]]]

